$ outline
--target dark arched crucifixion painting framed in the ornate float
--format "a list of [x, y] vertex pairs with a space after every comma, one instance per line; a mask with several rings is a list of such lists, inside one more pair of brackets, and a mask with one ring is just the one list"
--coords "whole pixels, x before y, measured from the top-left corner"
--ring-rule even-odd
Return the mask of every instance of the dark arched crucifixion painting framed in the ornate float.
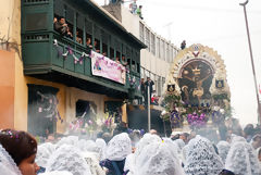
[[213, 71], [203, 61], [192, 61], [186, 64], [178, 78], [182, 90], [182, 100], [190, 105], [206, 105], [211, 100], [210, 86], [213, 79]]

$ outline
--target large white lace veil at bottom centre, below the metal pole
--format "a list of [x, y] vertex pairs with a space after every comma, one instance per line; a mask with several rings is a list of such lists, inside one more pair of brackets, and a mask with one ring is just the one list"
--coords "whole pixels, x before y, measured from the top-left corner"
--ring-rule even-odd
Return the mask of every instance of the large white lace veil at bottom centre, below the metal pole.
[[136, 158], [134, 175], [184, 175], [184, 172], [170, 145], [156, 141]]

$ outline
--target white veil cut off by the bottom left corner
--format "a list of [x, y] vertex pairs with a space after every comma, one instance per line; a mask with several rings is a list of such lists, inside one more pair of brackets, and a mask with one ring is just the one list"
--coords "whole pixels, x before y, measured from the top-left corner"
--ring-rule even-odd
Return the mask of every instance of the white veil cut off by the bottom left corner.
[[17, 165], [0, 143], [0, 174], [1, 175], [22, 175]]

